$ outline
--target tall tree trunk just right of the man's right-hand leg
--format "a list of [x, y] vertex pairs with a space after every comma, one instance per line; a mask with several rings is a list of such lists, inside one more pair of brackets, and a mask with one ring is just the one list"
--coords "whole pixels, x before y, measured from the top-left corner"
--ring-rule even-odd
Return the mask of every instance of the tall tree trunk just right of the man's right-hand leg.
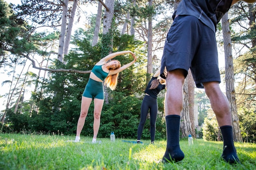
[[232, 126], [234, 133], [234, 141], [242, 142], [242, 135], [239, 128], [239, 119], [237, 115], [236, 106], [236, 92], [235, 92], [235, 79], [234, 79], [234, 65], [232, 56], [232, 45], [229, 29], [229, 19], [228, 13], [222, 17], [222, 32], [223, 32], [223, 42], [225, 49], [225, 80], [226, 80], [226, 95], [229, 100], [231, 116], [232, 116]]

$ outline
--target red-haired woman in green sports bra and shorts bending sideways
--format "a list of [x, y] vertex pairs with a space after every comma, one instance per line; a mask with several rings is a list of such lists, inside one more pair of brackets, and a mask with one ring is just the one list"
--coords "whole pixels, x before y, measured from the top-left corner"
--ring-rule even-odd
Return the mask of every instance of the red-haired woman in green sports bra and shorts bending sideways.
[[[108, 60], [118, 56], [123, 55], [126, 53], [130, 53], [134, 60], [124, 66], [121, 66], [118, 60]], [[92, 143], [96, 143], [97, 134], [99, 131], [100, 125], [100, 118], [101, 118], [101, 110], [104, 103], [104, 90], [103, 90], [103, 81], [105, 79], [105, 84], [111, 89], [115, 90], [117, 86], [117, 78], [119, 72], [123, 71], [124, 69], [130, 67], [134, 64], [137, 60], [137, 57], [131, 51], [119, 51], [116, 53], [112, 53], [107, 55], [106, 57], [102, 58], [99, 62], [97, 62], [92, 71], [90, 73], [90, 78], [85, 86], [85, 90], [82, 96], [82, 103], [81, 103], [81, 113], [77, 123], [76, 129], [76, 139], [75, 142], [79, 142], [80, 140], [80, 133], [83, 129], [85, 124], [85, 118], [88, 115], [88, 109], [94, 99], [94, 122], [93, 122], [93, 138]]]

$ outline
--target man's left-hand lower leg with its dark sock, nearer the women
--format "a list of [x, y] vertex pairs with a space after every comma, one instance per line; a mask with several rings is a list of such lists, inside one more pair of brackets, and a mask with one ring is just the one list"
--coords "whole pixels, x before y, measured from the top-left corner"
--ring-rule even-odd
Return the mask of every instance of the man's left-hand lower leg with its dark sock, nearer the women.
[[180, 112], [183, 107], [184, 72], [182, 69], [168, 71], [166, 77], [165, 119], [167, 132], [164, 162], [177, 162], [184, 158], [180, 149]]

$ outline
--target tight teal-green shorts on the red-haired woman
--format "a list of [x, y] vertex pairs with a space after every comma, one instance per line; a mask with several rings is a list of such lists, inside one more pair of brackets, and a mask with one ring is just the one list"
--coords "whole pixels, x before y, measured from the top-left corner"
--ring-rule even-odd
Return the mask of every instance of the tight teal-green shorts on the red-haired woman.
[[83, 91], [83, 97], [104, 100], [105, 96], [104, 96], [103, 83], [97, 82], [89, 78], [89, 81], [85, 86], [85, 90]]

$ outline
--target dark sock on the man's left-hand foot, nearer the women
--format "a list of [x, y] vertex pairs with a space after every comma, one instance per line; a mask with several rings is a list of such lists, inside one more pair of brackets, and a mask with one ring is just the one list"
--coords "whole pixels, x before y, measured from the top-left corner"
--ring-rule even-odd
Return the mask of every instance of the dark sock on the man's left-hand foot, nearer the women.
[[166, 119], [167, 145], [162, 161], [178, 162], [184, 158], [180, 149], [180, 116], [168, 115]]

